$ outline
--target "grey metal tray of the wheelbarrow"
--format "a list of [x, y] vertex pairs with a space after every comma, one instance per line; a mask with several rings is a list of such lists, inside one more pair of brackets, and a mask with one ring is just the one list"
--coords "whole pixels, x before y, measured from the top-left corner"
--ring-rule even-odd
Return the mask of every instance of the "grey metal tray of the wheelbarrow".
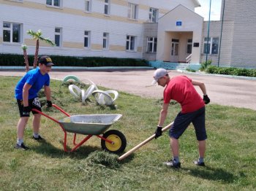
[[70, 133], [100, 135], [121, 116], [121, 114], [80, 114], [59, 120], [59, 123]]

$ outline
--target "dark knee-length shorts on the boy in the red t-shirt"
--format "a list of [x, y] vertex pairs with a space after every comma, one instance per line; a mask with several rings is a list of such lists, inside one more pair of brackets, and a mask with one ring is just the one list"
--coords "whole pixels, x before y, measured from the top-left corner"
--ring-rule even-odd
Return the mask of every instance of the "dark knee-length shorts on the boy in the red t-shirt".
[[195, 112], [186, 114], [179, 112], [169, 130], [169, 136], [178, 139], [191, 122], [195, 127], [197, 141], [206, 140], [206, 109], [204, 106]]

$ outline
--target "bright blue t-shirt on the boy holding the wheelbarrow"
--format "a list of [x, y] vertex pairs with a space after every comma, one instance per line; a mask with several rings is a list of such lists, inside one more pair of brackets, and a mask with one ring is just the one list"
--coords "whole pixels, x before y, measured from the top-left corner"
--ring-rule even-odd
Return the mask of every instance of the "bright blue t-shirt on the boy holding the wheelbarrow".
[[23, 99], [23, 87], [25, 83], [32, 86], [29, 89], [29, 99], [37, 98], [39, 90], [41, 90], [44, 85], [50, 85], [50, 76], [49, 74], [42, 75], [39, 68], [28, 71], [15, 87], [16, 99]]

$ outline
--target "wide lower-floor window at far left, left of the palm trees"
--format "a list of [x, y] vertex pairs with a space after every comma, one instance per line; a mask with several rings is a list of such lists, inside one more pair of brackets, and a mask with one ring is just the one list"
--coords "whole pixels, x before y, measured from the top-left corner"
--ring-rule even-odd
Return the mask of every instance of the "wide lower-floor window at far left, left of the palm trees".
[[3, 23], [3, 41], [4, 42], [21, 42], [21, 24]]

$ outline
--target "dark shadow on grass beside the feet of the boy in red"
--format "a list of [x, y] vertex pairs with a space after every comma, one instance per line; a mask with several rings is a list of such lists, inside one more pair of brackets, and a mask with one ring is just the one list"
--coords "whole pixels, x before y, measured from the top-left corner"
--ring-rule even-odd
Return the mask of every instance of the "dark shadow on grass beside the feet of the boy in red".
[[192, 176], [200, 177], [202, 179], [221, 181], [226, 183], [232, 183], [236, 180], [236, 176], [223, 170], [222, 168], [211, 168], [211, 167], [199, 167], [199, 168], [182, 168], [183, 170], [189, 171]]

